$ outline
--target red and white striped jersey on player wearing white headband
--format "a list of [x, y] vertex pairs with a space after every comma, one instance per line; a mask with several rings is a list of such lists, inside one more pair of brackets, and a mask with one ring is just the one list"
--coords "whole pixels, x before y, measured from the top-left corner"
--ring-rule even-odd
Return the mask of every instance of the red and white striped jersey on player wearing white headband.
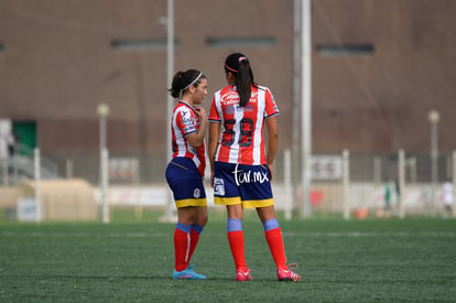
[[203, 144], [198, 149], [192, 148], [186, 137], [197, 132], [200, 126], [199, 117], [195, 109], [187, 102], [181, 100], [173, 111], [171, 131], [173, 134], [173, 158], [185, 156], [195, 162], [196, 167], [202, 176], [206, 167], [206, 148]]

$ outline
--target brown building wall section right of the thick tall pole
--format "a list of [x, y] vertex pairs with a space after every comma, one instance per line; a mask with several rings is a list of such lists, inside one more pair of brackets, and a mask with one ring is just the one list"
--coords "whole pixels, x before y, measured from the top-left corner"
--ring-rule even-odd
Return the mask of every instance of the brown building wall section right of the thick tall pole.
[[314, 44], [374, 46], [373, 56], [314, 56], [316, 151], [427, 151], [427, 112], [437, 109], [439, 148], [456, 148], [456, 2], [314, 2]]

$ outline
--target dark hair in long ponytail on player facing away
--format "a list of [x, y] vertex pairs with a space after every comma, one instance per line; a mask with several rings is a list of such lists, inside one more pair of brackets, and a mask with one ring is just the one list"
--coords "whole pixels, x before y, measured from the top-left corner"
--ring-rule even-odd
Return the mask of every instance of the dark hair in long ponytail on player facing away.
[[251, 86], [257, 87], [249, 59], [241, 53], [230, 54], [225, 61], [225, 71], [235, 75], [239, 105], [245, 107], [250, 100]]

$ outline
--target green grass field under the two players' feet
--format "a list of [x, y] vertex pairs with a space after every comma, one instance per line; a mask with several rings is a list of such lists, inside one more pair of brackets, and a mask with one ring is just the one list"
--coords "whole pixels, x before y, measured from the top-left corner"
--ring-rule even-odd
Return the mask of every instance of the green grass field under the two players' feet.
[[236, 282], [224, 216], [193, 258], [206, 281], [174, 281], [174, 224], [0, 223], [0, 302], [456, 301], [456, 221], [281, 219], [302, 282], [278, 282], [259, 220], [245, 220], [252, 282]]

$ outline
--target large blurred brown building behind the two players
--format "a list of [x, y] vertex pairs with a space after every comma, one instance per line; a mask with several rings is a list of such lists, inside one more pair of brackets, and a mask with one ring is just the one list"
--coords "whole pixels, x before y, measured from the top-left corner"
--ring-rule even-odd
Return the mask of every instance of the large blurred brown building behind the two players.
[[[280, 109], [280, 153], [292, 149], [293, 18], [300, 1], [175, 0], [175, 67], [198, 68], [210, 95], [222, 62], [245, 53]], [[298, 8], [297, 8], [298, 9]], [[442, 151], [456, 148], [456, 1], [318, 0], [312, 8], [313, 151], [427, 152], [431, 109]], [[74, 174], [98, 177], [97, 106], [110, 107], [111, 156], [166, 163], [166, 1], [1, 0], [0, 117], [22, 143]]]

